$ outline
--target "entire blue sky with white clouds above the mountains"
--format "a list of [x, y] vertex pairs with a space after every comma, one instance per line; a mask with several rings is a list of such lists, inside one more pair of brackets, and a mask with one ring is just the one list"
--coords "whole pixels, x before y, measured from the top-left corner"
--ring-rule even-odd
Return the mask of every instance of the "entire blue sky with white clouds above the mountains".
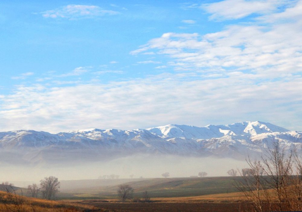
[[302, 1], [0, 1], [0, 131], [302, 131]]

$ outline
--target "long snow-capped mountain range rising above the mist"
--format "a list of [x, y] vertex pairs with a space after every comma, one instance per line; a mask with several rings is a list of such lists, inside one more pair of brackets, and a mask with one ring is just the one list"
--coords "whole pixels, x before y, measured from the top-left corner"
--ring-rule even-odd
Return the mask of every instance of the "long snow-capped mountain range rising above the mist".
[[286, 148], [299, 147], [302, 132], [261, 121], [205, 127], [170, 124], [127, 131], [92, 128], [57, 134], [19, 130], [0, 132], [0, 160], [101, 161], [145, 153], [244, 159], [247, 154], [261, 153], [273, 141]]

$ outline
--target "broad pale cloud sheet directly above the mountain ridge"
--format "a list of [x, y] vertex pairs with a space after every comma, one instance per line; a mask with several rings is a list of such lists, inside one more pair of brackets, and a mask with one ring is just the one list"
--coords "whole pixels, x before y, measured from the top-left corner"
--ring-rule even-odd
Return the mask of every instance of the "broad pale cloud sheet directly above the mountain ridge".
[[301, 89], [301, 77], [255, 84], [252, 75], [242, 72], [226, 78], [182, 73], [106, 85], [20, 86], [2, 99], [0, 127], [58, 132], [168, 123], [204, 126], [252, 117], [294, 129], [302, 114]]

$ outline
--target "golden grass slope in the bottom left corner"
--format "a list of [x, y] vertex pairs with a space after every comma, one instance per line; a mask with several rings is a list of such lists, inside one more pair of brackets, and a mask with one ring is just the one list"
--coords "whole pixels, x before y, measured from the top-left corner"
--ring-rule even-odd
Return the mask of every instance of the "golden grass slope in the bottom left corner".
[[92, 206], [85, 206], [82, 204], [22, 197], [18, 194], [0, 191], [0, 211], [76, 212], [102, 210]]

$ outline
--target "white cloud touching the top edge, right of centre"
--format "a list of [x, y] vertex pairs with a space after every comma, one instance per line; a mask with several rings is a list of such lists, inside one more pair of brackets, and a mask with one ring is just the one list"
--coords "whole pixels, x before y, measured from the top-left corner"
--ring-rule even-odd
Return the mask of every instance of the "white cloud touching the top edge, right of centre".
[[279, 0], [225, 0], [203, 4], [201, 8], [211, 13], [210, 20], [239, 19], [252, 14], [267, 14], [274, 12], [278, 6], [292, 1]]

